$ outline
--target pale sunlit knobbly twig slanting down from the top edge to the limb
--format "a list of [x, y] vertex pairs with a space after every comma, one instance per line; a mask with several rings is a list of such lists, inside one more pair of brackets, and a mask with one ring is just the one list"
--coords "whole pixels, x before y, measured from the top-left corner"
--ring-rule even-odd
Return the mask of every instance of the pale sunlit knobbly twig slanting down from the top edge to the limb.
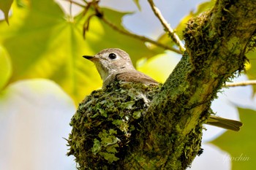
[[181, 42], [181, 39], [178, 38], [178, 35], [173, 31], [173, 28], [170, 28], [170, 25], [167, 23], [165, 18], [162, 16], [160, 10], [155, 6], [154, 1], [148, 0], [148, 3], [150, 4], [151, 9], [154, 12], [154, 15], [157, 16], [159, 21], [162, 23], [162, 26], [164, 26], [165, 30], [170, 35], [170, 38], [173, 39], [173, 42], [175, 42], [178, 45], [179, 49], [182, 52], [184, 52], [186, 50], [186, 48], [184, 47], [183, 43]]

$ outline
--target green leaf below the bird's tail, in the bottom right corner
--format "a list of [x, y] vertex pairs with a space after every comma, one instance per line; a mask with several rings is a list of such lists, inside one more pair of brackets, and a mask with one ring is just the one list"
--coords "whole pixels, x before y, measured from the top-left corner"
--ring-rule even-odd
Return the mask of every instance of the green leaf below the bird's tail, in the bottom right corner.
[[230, 153], [232, 169], [255, 169], [256, 159], [256, 136], [255, 120], [256, 111], [252, 109], [238, 108], [241, 121], [244, 125], [241, 131], [226, 131], [212, 143], [216, 144], [222, 150]]

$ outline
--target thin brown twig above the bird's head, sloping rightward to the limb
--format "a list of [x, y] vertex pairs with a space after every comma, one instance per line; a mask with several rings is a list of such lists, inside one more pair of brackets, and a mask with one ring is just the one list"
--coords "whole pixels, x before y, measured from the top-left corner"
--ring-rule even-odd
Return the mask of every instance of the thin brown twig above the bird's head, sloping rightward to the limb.
[[104, 18], [104, 17], [102, 17], [102, 18], [100, 18], [100, 19], [102, 19], [102, 21], [103, 21], [104, 23], [108, 24], [108, 26], [110, 26], [110, 27], [113, 28], [114, 30], [120, 32], [121, 34], [125, 34], [125, 35], [127, 35], [127, 36], [132, 36], [132, 37], [134, 37], [135, 39], [140, 39], [140, 40], [143, 41], [143, 42], [150, 42], [151, 44], [157, 45], [157, 46], [162, 47], [162, 48], [164, 48], [164, 49], [166, 49], [166, 50], [171, 50], [171, 51], [174, 51], [174, 52], [176, 52], [176, 53], [178, 53], [178, 54], [182, 54], [182, 52], [181, 52], [180, 50], [177, 50], [176, 48], [170, 47], [170, 46], [168, 46], [168, 45], [163, 45], [162, 43], [156, 42], [156, 41], [154, 41], [154, 40], [152, 40], [152, 39], [148, 39], [146, 36], [139, 36], [139, 35], [137, 35], [137, 34], [132, 34], [132, 33], [130, 33], [129, 31], [125, 31], [124, 29], [118, 28], [118, 26], [114, 25], [113, 23], [111, 23], [109, 20], [107, 20], [107, 19]]

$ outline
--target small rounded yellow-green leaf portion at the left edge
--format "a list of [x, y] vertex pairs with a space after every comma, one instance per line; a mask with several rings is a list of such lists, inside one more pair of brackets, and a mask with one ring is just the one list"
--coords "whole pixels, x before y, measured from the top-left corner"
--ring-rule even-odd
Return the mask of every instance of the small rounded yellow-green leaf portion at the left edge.
[[4, 47], [0, 46], [0, 90], [4, 88], [10, 80], [12, 74], [12, 64], [10, 57]]

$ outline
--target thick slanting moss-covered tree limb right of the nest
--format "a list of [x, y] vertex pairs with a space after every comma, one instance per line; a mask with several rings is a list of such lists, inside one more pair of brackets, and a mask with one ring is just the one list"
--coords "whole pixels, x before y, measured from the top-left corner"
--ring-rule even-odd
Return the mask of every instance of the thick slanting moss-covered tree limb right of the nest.
[[186, 53], [146, 112], [131, 169], [186, 169], [200, 153], [202, 124], [222, 85], [244, 69], [255, 46], [256, 1], [219, 0], [187, 23]]

